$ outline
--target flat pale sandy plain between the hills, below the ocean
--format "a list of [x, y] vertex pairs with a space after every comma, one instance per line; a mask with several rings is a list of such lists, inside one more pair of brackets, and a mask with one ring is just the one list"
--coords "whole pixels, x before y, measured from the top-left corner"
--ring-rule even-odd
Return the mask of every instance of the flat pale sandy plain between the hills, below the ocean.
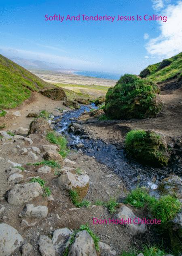
[[114, 86], [116, 80], [102, 79], [96, 77], [84, 77], [80, 75], [63, 74], [53, 71], [30, 70], [32, 73], [42, 78], [49, 83], [64, 83], [64, 84], [78, 84], [78, 85], [102, 85]]

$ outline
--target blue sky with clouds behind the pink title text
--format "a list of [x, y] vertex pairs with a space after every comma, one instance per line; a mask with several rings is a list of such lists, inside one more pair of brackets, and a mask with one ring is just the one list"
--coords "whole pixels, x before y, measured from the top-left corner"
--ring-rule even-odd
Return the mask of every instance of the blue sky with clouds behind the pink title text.
[[[61, 68], [136, 73], [182, 50], [180, 0], [0, 1], [0, 53]], [[143, 16], [162, 21], [45, 21], [45, 15]]]

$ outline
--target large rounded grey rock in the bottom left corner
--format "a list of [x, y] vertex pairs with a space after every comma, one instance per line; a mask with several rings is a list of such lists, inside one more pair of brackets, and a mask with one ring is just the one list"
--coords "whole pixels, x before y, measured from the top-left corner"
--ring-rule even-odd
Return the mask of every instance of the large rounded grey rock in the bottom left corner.
[[0, 255], [9, 256], [23, 243], [18, 231], [6, 223], [0, 224]]

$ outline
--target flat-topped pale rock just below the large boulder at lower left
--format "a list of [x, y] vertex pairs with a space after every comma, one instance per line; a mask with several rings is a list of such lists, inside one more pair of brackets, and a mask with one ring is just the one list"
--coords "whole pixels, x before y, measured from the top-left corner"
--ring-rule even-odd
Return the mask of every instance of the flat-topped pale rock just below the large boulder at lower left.
[[47, 206], [38, 205], [34, 206], [33, 204], [26, 205], [23, 208], [23, 211], [19, 214], [20, 218], [46, 218], [48, 213]]

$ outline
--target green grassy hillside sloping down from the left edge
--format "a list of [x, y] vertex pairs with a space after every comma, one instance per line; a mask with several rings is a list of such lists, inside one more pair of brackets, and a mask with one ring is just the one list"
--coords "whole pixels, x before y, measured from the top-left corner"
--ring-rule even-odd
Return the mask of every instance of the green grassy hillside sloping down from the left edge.
[[30, 97], [31, 91], [39, 91], [49, 84], [0, 55], [0, 109], [11, 109]]

